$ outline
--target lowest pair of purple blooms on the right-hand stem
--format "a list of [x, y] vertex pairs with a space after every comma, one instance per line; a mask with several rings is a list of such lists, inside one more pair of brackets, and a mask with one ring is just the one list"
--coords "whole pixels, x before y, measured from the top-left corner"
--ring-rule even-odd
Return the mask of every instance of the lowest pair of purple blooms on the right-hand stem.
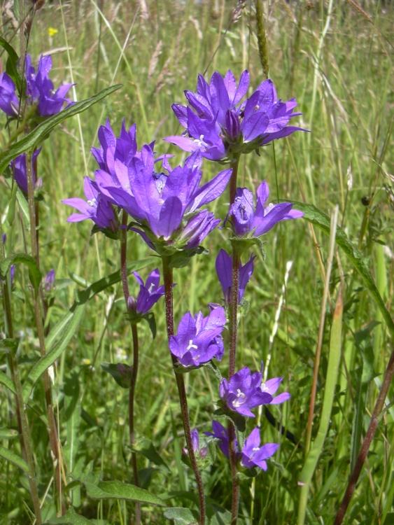
[[[212, 421], [213, 432], [204, 432], [206, 435], [211, 435], [218, 440], [218, 447], [223, 454], [228, 458], [228, 433], [227, 429], [218, 421]], [[273, 456], [279, 444], [267, 443], [260, 447], [260, 430], [255, 428], [249, 434], [244, 442], [244, 447], [239, 451], [239, 444], [237, 439], [234, 442], [236, 455], [241, 465], [246, 468], [259, 467], [262, 470], [267, 470], [267, 458]]]

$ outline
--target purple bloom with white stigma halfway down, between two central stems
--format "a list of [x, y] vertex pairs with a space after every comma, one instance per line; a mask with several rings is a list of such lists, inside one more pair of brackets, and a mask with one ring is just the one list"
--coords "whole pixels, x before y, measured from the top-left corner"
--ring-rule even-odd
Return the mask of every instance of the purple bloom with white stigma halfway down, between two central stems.
[[183, 366], [199, 366], [212, 358], [223, 356], [223, 339], [220, 337], [225, 325], [225, 310], [213, 309], [209, 316], [202, 312], [192, 317], [190, 311], [181, 318], [178, 334], [171, 335], [169, 349]]

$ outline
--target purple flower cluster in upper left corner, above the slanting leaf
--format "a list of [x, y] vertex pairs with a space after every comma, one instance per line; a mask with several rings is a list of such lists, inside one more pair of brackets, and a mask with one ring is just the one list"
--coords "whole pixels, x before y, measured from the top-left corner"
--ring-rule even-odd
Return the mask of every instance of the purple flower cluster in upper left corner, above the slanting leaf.
[[[19, 64], [19, 68], [21, 66]], [[49, 72], [52, 69], [52, 57], [47, 56], [38, 61], [37, 71], [31, 65], [30, 55], [26, 55], [26, 102], [29, 106], [37, 106], [37, 113], [41, 117], [56, 115], [62, 111], [64, 104], [73, 104], [66, 98], [66, 94], [73, 84], [61, 85], [56, 91]], [[10, 117], [17, 117], [19, 100], [17, 99], [15, 83], [7, 73], [0, 75], [0, 109]]]

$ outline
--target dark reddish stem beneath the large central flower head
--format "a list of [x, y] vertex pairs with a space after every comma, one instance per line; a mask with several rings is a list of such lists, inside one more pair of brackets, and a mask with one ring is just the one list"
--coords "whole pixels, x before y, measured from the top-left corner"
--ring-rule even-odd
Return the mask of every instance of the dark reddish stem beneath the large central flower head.
[[[163, 279], [164, 279], [164, 297], [166, 304], [166, 323], [167, 323], [167, 337], [170, 339], [171, 335], [174, 335], [174, 302], [172, 294], [172, 286], [174, 283], [172, 268], [169, 265], [169, 257], [162, 256], [163, 265]], [[186, 397], [185, 381], [183, 380], [183, 374], [177, 374], [175, 367], [177, 365], [177, 359], [171, 353], [172, 365], [174, 367], [174, 374], [176, 379], [176, 386], [178, 387], [179, 403], [181, 405], [181, 414], [183, 421], [183, 430], [185, 433], [186, 444], [188, 445], [188, 453], [190, 463], [192, 464], [193, 472], [195, 473], [195, 479], [197, 483], [197, 490], [199, 496], [199, 525], [205, 525], [206, 508], [205, 508], [205, 494], [204, 485], [202, 483], [201, 473], [197, 465], [195, 451], [192, 444], [192, 435], [190, 429], [189, 411], [188, 411], [188, 399]]]

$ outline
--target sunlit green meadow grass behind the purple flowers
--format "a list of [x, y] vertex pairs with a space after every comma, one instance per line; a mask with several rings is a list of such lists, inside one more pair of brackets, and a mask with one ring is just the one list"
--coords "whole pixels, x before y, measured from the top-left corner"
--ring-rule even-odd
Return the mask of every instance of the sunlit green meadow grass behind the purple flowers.
[[[8, 4], [7, 4], [8, 5]], [[17, 21], [2, 4], [2, 36], [17, 49]], [[234, 17], [234, 1], [110, 1], [80, 0], [45, 3], [36, 13], [28, 50], [36, 63], [42, 53], [52, 55], [51, 78], [55, 86], [75, 82], [72, 98], [82, 100], [99, 90], [122, 83], [121, 90], [93, 106], [78, 118], [66, 120], [43, 144], [38, 176], [43, 177], [44, 200], [40, 204], [41, 269], [54, 268], [57, 287], [50, 308], [50, 325], [69, 309], [76, 292], [119, 267], [118, 243], [103, 235], [91, 236], [91, 225], [68, 224], [71, 213], [61, 200], [83, 196], [83, 178], [96, 169], [90, 148], [97, 146], [97, 130], [108, 117], [115, 134], [122, 118], [127, 128], [137, 123], [139, 147], [157, 139], [156, 151], [172, 153], [175, 163], [185, 154], [162, 137], [181, 132], [171, 104], [184, 103], [183, 90], [195, 90], [197, 73], [210, 78], [216, 69], [224, 75], [232, 69], [239, 78], [251, 73], [251, 87], [263, 79], [255, 36], [255, 11], [246, 2]], [[296, 97], [302, 117], [297, 125], [311, 134], [295, 133], [288, 139], [261, 148], [258, 155], [244, 155], [239, 186], [257, 187], [269, 182], [272, 199], [290, 199], [316, 205], [326, 214], [339, 205], [339, 224], [349, 239], [369, 258], [379, 291], [390, 309], [393, 302], [393, 4], [364, 1], [264, 2], [269, 77], [279, 97]], [[236, 18], [236, 20], [234, 20]], [[3, 53], [1, 62], [5, 58]], [[1, 124], [0, 147], [8, 144]], [[219, 169], [204, 165], [204, 179]], [[227, 213], [226, 196], [216, 203], [216, 216]], [[13, 251], [24, 251], [28, 237], [19, 216], [6, 223], [10, 199], [9, 180], [0, 177], [0, 212], [3, 231]], [[284, 376], [290, 401], [273, 407], [295, 436], [296, 443], [279, 437], [264, 415], [263, 441], [281, 447], [270, 464], [252, 482], [241, 484], [239, 523], [295, 523], [304, 463], [302, 442], [307, 427], [314, 354], [321, 317], [324, 280], [318, 253], [325, 265], [328, 237], [306, 221], [280, 224], [265, 237], [265, 260], [259, 253], [246, 292], [251, 308], [239, 328], [237, 365], [258, 369], [270, 356], [269, 377]], [[207, 302], [220, 302], [222, 292], [214, 269], [223, 232], [216, 230], [204, 242], [209, 255], [192, 259], [177, 270], [174, 279], [176, 325], [185, 311], [206, 311]], [[369, 292], [346, 256], [339, 251], [345, 275], [342, 362], [330, 430], [316, 469], [309, 507], [315, 518], [309, 523], [330, 524], [335, 517], [360, 445], [360, 436], [381, 384], [393, 342]], [[145, 278], [157, 259], [136, 236], [129, 237], [128, 258], [149, 258]], [[286, 263], [293, 261], [286, 293], [282, 287]], [[130, 293], [138, 286], [129, 279]], [[333, 304], [339, 285], [336, 262], [331, 275]], [[283, 298], [279, 325], [273, 340], [279, 301]], [[27, 273], [17, 267], [13, 288], [13, 315], [20, 338], [18, 360], [26, 375], [38, 356]], [[139, 456], [145, 486], [165, 498], [168, 505], [193, 505], [185, 491], [193, 490], [190, 470], [181, 461], [185, 446], [174, 374], [167, 348], [164, 301], [155, 306], [157, 336], [148, 325], [139, 325], [141, 365], [136, 385], [136, 436], [151, 440], [166, 465], [155, 465]], [[328, 302], [323, 332], [321, 365], [316, 394], [317, 428], [325, 386], [332, 309]], [[0, 321], [3, 330], [3, 316]], [[104, 472], [104, 479], [132, 481], [127, 431], [127, 390], [106, 374], [103, 362], [127, 362], [131, 332], [125, 319], [121, 284], [106, 289], [87, 304], [76, 335], [57, 361], [53, 395], [64, 447], [66, 482], [90, 462]], [[224, 362], [225, 363], [225, 362]], [[223, 363], [223, 364], [224, 364]], [[1, 370], [6, 357], [0, 353]], [[211, 430], [216, 381], [205, 370], [187, 374], [192, 426]], [[15, 428], [12, 398], [0, 385], [0, 426]], [[389, 395], [393, 399], [393, 388]], [[53, 465], [48, 453], [48, 433], [43, 416], [43, 387], [36, 385], [28, 416], [34, 442], [39, 491], [46, 492], [45, 513], [55, 510], [51, 482]], [[389, 401], [389, 400], [388, 400]], [[11, 419], [10, 419], [11, 411]], [[394, 523], [393, 447], [394, 411], [390, 405], [379, 428], [353, 496], [346, 524]], [[260, 421], [260, 417], [258, 418]], [[0, 436], [1, 438], [1, 436]], [[17, 439], [3, 440], [15, 452]], [[142, 445], [141, 445], [142, 446]], [[353, 463], [352, 463], [353, 464]], [[203, 472], [206, 493], [230, 507], [230, 470], [218, 454], [213, 468]], [[122, 500], [87, 498], [84, 489], [69, 491], [78, 513], [104, 525], [126, 524], [133, 505]], [[27, 478], [14, 465], [0, 460], [0, 524], [31, 523]], [[160, 507], [143, 506], [143, 523], [167, 522]], [[314, 521], [315, 519], [315, 521]], [[317, 520], [317, 521], [316, 521]]]

